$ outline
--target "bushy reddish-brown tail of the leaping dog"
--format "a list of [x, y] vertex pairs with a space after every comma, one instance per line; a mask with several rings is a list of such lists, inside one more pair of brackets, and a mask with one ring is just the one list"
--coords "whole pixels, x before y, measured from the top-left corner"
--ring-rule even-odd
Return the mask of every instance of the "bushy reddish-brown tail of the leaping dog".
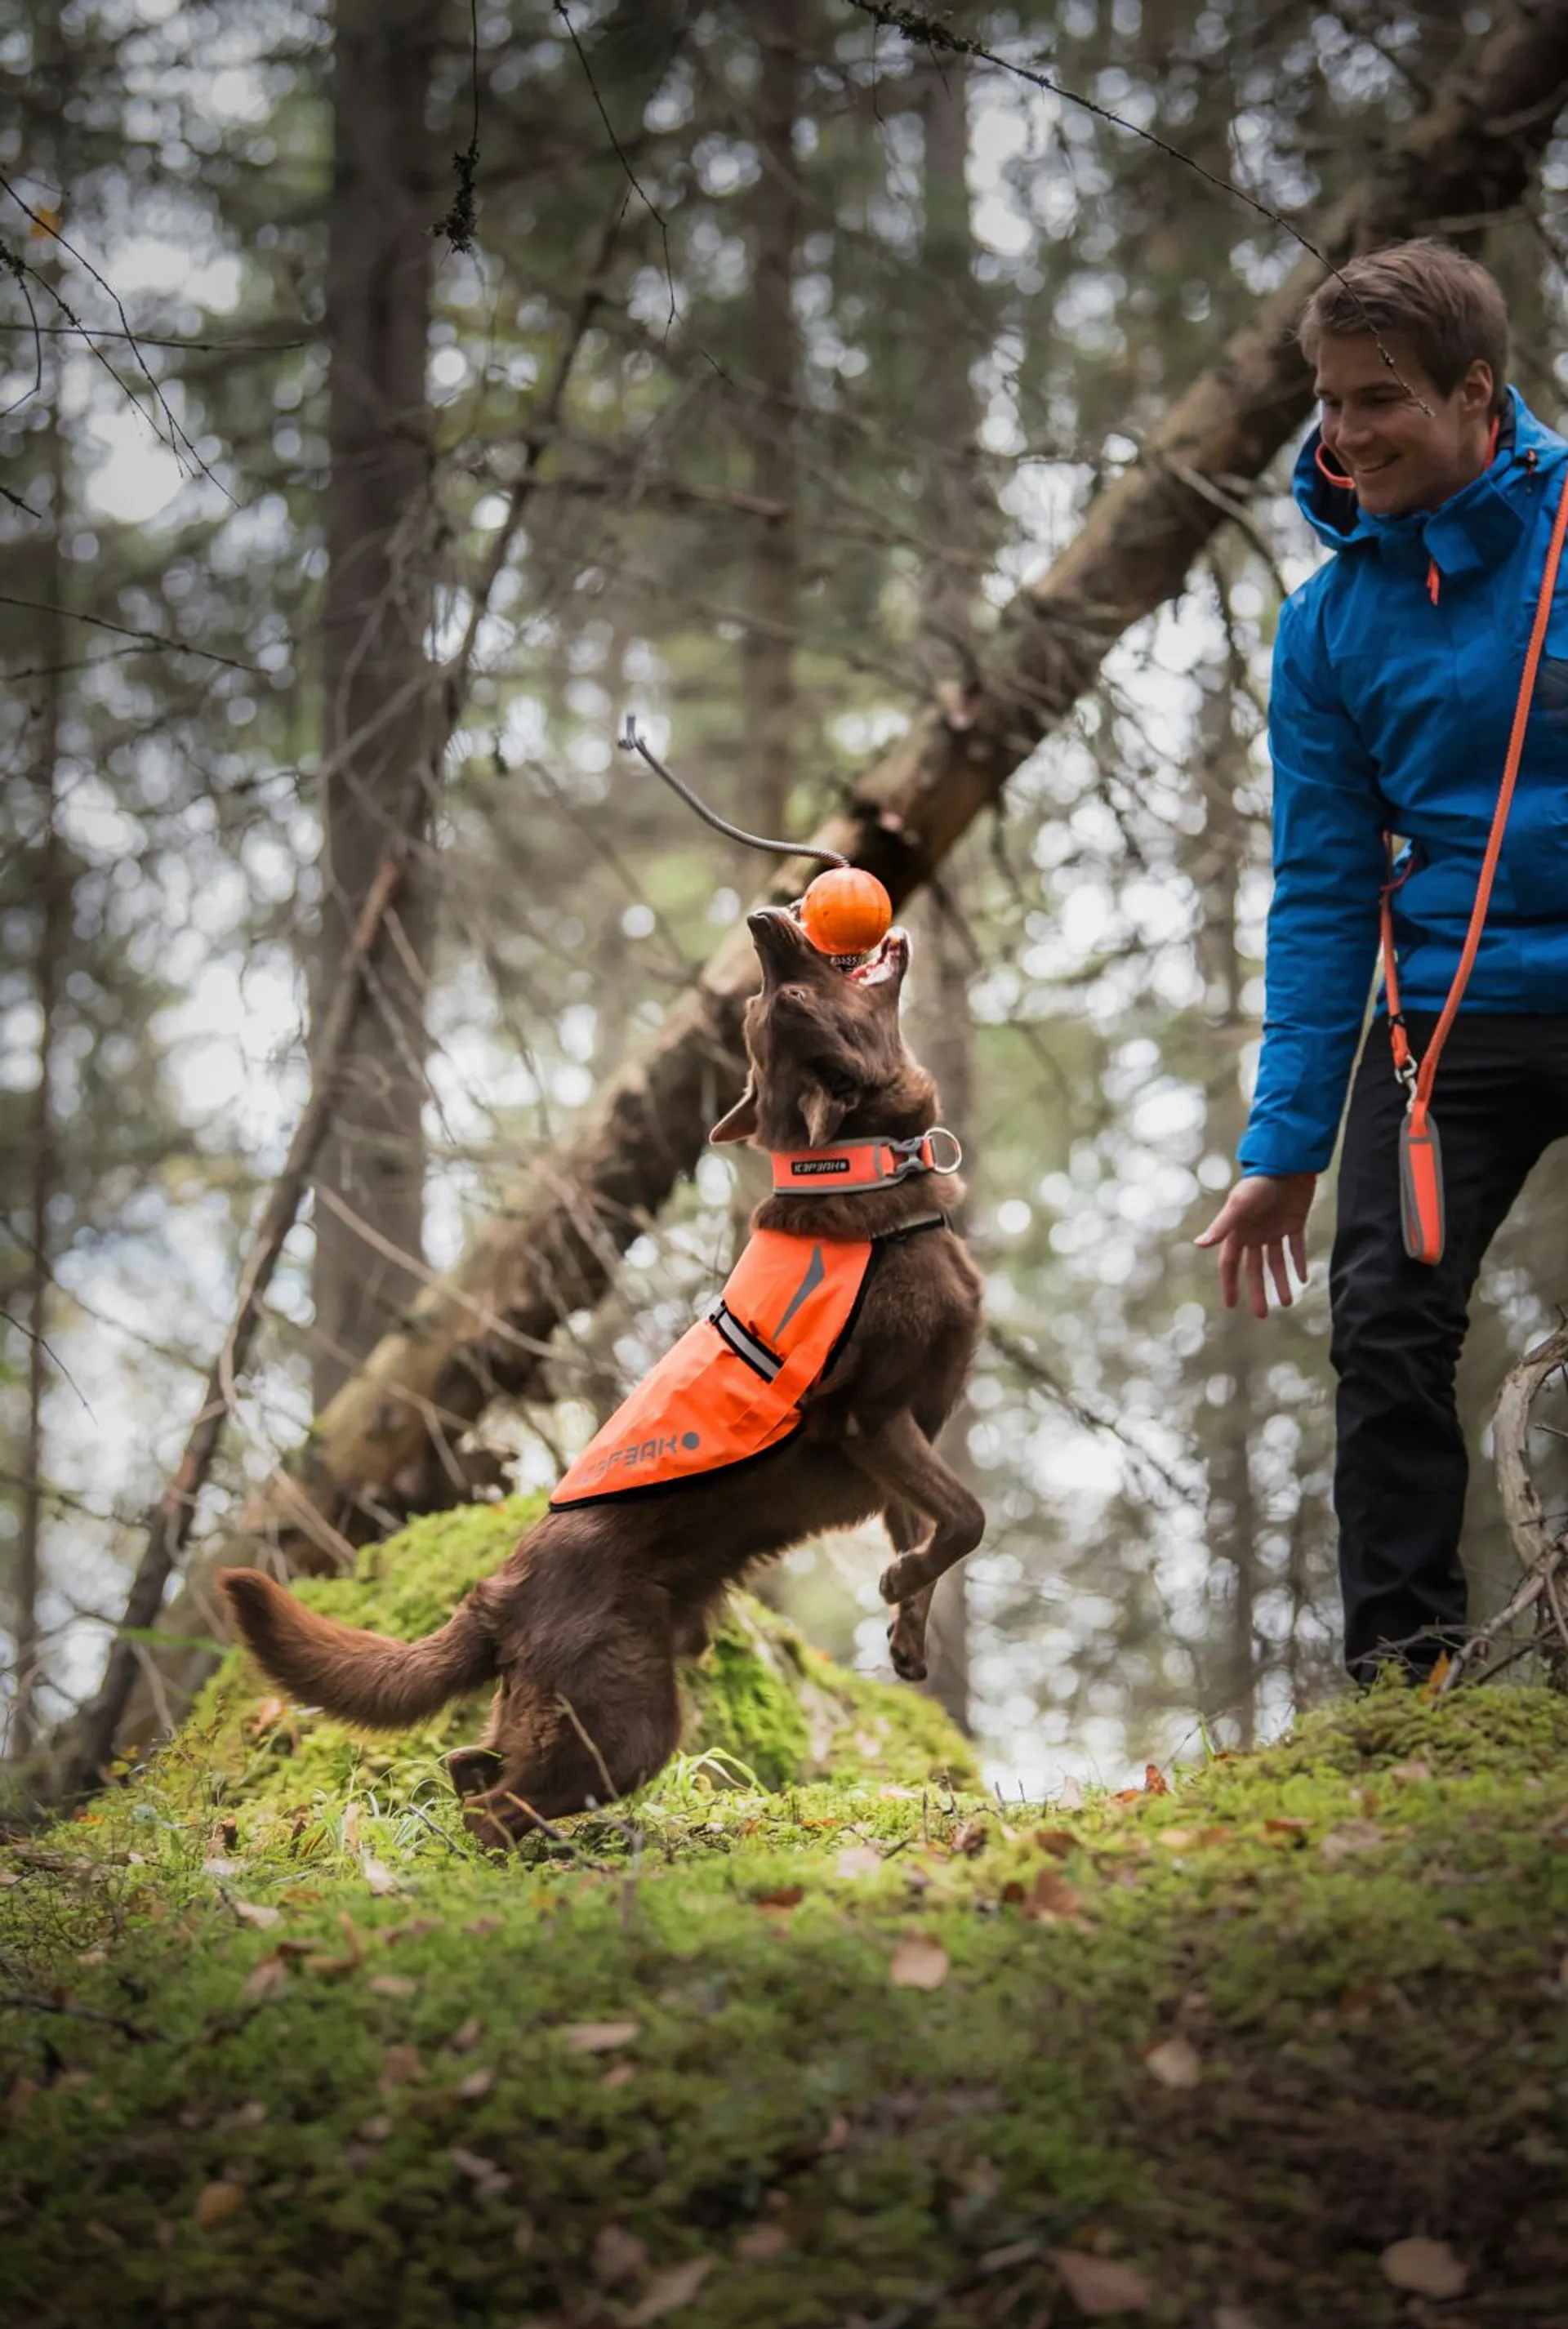
[[496, 1647], [473, 1593], [440, 1633], [391, 1642], [317, 1616], [259, 1570], [224, 1570], [219, 1586], [256, 1665], [294, 1698], [349, 1723], [396, 1730], [496, 1675]]

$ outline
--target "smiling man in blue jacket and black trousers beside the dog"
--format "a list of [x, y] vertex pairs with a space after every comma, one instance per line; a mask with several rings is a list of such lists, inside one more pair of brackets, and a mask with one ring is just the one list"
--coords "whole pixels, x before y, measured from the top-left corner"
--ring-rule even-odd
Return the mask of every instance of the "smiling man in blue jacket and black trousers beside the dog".
[[[1274, 901], [1242, 1178], [1198, 1239], [1226, 1304], [1291, 1302], [1330, 1160], [1389, 880], [1398, 1001], [1417, 1060], [1458, 969], [1521, 692], [1568, 445], [1507, 382], [1491, 275], [1440, 242], [1356, 259], [1307, 305], [1321, 422], [1295, 498], [1333, 557], [1274, 643]], [[1330, 1260], [1340, 1376], [1335, 1512], [1344, 1656], [1421, 1677], [1465, 1621], [1465, 1446], [1454, 1369], [1482, 1255], [1540, 1153], [1568, 1134], [1568, 557], [1535, 680], [1479, 953], [1433, 1116], [1447, 1246], [1400, 1230], [1393, 1071], [1379, 992], [1344, 1125]], [[1542, 1255], [1549, 1262], [1549, 1255]]]

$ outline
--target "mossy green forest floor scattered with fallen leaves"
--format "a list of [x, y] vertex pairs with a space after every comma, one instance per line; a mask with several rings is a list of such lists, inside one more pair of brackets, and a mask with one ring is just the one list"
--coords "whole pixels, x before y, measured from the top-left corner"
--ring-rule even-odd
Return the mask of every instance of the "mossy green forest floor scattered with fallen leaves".
[[[419, 1633], [515, 1523], [310, 1591]], [[233, 1656], [0, 1849], [0, 2315], [1566, 2329], [1566, 1698], [1379, 1689], [1065, 1810], [755, 1609], [694, 1696], [496, 1861], [473, 1709], [366, 1742]]]

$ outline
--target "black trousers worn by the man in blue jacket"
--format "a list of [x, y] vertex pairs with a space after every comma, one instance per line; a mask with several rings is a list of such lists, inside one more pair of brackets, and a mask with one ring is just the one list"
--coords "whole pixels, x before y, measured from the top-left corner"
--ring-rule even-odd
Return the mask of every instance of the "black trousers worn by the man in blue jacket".
[[[1417, 1057], [1435, 1022], [1435, 1013], [1410, 1013]], [[1426, 1672], [1463, 1633], [1468, 1463], [1454, 1372], [1482, 1255], [1542, 1148], [1568, 1134], [1568, 1015], [1458, 1013], [1433, 1085], [1447, 1197], [1435, 1269], [1412, 1262], [1400, 1237], [1403, 1116], [1389, 1029], [1377, 1020], [1344, 1123], [1328, 1276], [1344, 1663], [1361, 1682], [1393, 1649]]]

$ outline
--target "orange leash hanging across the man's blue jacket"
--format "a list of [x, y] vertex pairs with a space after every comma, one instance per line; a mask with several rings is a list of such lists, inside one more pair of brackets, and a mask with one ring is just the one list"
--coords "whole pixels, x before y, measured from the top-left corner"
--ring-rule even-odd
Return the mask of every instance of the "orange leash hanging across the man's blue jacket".
[[[1552, 524], [1552, 540], [1547, 545], [1547, 564], [1540, 575], [1540, 599], [1535, 601], [1535, 622], [1531, 624], [1531, 645], [1524, 657], [1524, 675], [1519, 680], [1519, 699], [1514, 703], [1514, 727], [1507, 738], [1507, 759], [1503, 764], [1503, 783], [1498, 787], [1498, 806], [1491, 813], [1491, 831], [1486, 836], [1486, 855], [1482, 857], [1482, 878], [1475, 885], [1475, 906], [1470, 908], [1470, 929], [1465, 932], [1465, 946], [1458, 957], [1458, 969], [1454, 971], [1454, 985], [1449, 987], [1449, 999], [1442, 1006], [1442, 1018], [1433, 1027], [1433, 1039], [1426, 1046], [1426, 1057], [1419, 1062], [1410, 1050], [1410, 1034], [1405, 1032], [1405, 1015], [1400, 1011], [1400, 983], [1393, 953], [1393, 892], [1400, 880], [1386, 880], [1379, 906], [1382, 922], [1382, 948], [1384, 948], [1384, 992], [1389, 997], [1389, 1043], [1393, 1046], [1393, 1074], [1405, 1085], [1405, 1123], [1400, 1125], [1400, 1223], [1405, 1230], [1405, 1253], [1414, 1262], [1440, 1262], [1442, 1239], [1445, 1239], [1445, 1206], [1442, 1206], [1442, 1146], [1438, 1141], [1438, 1123], [1431, 1113], [1433, 1081], [1438, 1076], [1438, 1060], [1442, 1057], [1442, 1046], [1449, 1039], [1449, 1029], [1458, 1018], [1458, 1004], [1470, 985], [1470, 971], [1475, 969], [1475, 957], [1482, 943], [1482, 929], [1486, 927], [1486, 908], [1491, 904], [1491, 883], [1498, 871], [1498, 857], [1503, 855], [1503, 829], [1507, 827], [1507, 810], [1514, 799], [1514, 780], [1519, 776], [1519, 759], [1524, 757], [1524, 731], [1531, 717], [1531, 696], [1535, 694], [1535, 673], [1540, 668], [1540, 650], [1547, 643], [1547, 624], [1552, 620], [1552, 594], [1556, 589], [1556, 568], [1563, 554], [1563, 533], [1568, 533], [1568, 475], [1556, 496], [1556, 519]], [[1393, 871], [1393, 836], [1384, 834], [1389, 848], [1389, 871]]]

